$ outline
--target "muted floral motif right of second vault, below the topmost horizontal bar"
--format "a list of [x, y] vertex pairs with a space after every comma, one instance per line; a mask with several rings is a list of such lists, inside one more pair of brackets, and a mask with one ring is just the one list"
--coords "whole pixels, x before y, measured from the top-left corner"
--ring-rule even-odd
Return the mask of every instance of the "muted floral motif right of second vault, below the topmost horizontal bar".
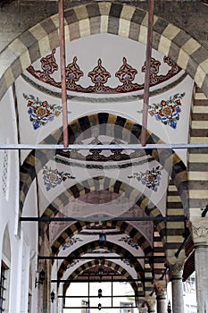
[[152, 170], [146, 170], [145, 173], [133, 173], [132, 175], [128, 176], [128, 178], [137, 179], [138, 182], [142, 182], [142, 184], [146, 185], [148, 189], [157, 191], [161, 181], [161, 171], [162, 167], [156, 166]]

